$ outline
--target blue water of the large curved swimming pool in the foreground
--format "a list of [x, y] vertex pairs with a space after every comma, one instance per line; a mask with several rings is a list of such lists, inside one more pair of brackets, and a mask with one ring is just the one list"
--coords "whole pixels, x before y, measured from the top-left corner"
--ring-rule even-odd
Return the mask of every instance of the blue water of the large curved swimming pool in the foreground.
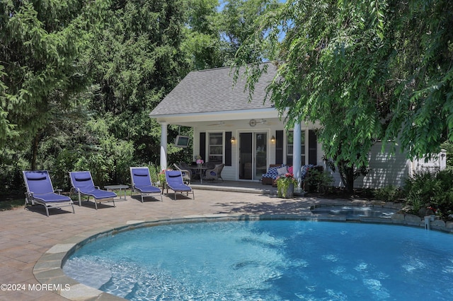
[[453, 300], [453, 236], [294, 220], [160, 225], [86, 244], [63, 269], [129, 300]]

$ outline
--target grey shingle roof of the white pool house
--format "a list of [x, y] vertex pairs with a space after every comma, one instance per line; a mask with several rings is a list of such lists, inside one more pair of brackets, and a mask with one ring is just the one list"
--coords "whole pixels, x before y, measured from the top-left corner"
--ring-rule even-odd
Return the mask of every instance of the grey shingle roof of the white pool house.
[[275, 66], [269, 64], [267, 73], [263, 73], [256, 83], [251, 102], [248, 102], [248, 90], [243, 90], [245, 79], [233, 86], [232, 73], [229, 67], [190, 72], [149, 115], [155, 117], [272, 107], [268, 101], [263, 105], [263, 100], [265, 87], [276, 74]]

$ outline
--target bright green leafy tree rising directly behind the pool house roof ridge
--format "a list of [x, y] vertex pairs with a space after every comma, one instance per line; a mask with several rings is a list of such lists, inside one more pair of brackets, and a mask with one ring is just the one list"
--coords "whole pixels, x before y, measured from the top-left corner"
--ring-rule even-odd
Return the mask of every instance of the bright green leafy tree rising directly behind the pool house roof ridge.
[[182, 44], [190, 71], [226, 66], [254, 32], [256, 19], [279, 5], [275, 0], [190, 0]]

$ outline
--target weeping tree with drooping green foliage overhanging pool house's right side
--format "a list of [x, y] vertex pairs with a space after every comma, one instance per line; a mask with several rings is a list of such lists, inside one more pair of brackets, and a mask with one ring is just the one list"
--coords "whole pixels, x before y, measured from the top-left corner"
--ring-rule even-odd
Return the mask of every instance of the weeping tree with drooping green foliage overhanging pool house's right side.
[[[366, 171], [369, 150], [378, 139], [402, 141], [409, 157], [440, 147], [445, 121], [453, 120], [452, 102], [445, 98], [451, 94], [451, 60], [445, 62], [445, 58], [452, 57], [451, 30], [446, 33], [452, 16], [446, 7], [445, 1], [416, 1], [408, 7], [399, 1], [287, 2], [260, 19], [258, 33], [241, 46], [236, 62], [253, 57], [248, 66], [253, 90], [265, 71], [260, 65], [263, 57], [277, 60], [278, 74], [268, 87], [270, 101], [280, 116], [286, 114], [287, 126], [319, 122], [323, 151], [352, 190], [357, 172]], [[268, 35], [260, 35], [263, 30]], [[415, 37], [423, 42], [419, 47], [410, 37], [423, 36], [423, 30], [437, 31], [435, 39]], [[421, 61], [426, 65], [420, 74]], [[444, 62], [441, 75], [434, 72], [440, 61]], [[417, 85], [413, 71], [423, 79]], [[439, 83], [435, 78], [445, 79], [442, 93], [434, 92], [434, 83]], [[415, 86], [418, 89], [411, 88]], [[426, 114], [430, 98], [436, 99], [436, 110], [443, 114]], [[413, 124], [420, 126], [413, 129]]]

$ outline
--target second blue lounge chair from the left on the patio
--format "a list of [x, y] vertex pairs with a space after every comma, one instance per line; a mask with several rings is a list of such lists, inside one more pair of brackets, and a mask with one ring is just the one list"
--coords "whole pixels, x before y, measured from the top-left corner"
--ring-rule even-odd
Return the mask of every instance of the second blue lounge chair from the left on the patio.
[[107, 191], [99, 189], [98, 186], [94, 186], [91, 172], [69, 172], [71, 178], [71, 195], [76, 192], [79, 195], [79, 206], [82, 206], [81, 196], [88, 196], [86, 201], [90, 200], [90, 196], [93, 196], [94, 206], [98, 210], [98, 203], [113, 201], [113, 207], [115, 206], [115, 197], [117, 196], [113, 191]]

